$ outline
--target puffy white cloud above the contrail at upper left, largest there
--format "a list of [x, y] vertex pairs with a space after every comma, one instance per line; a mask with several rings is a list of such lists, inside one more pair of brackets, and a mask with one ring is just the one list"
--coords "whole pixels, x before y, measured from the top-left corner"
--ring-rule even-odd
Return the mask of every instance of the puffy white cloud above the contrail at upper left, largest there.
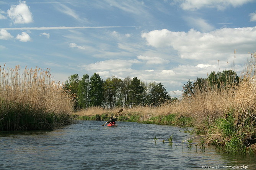
[[19, 1], [19, 5], [12, 5], [7, 11], [8, 17], [15, 24], [27, 24], [33, 22], [32, 13], [26, 5], [26, 1]]

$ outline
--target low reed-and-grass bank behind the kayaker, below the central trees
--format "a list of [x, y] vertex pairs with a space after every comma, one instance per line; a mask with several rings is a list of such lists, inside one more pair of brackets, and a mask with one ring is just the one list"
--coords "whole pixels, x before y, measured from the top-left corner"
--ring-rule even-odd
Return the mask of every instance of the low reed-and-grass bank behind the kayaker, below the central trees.
[[[166, 108], [169, 106], [166, 105]], [[86, 110], [76, 112], [75, 119], [78, 120], [108, 120], [111, 115], [118, 112], [117, 109], [103, 109], [101, 107], [91, 107]], [[160, 112], [159, 112], [160, 111]], [[123, 122], [138, 122], [160, 125], [186, 125], [190, 126], [192, 120], [190, 117], [185, 117], [177, 114], [165, 114], [162, 107], [134, 107], [125, 108], [118, 117], [118, 121]]]

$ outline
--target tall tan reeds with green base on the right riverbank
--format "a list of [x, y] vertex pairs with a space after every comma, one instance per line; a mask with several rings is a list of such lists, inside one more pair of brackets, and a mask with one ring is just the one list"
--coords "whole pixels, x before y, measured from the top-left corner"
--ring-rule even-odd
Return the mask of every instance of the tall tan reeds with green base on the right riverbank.
[[245, 151], [256, 143], [256, 53], [251, 56], [240, 82], [228, 80], [217, 88], [207, 83], [192, 96], [183, 98], [179, 111], [192, 117], [198, 132], [208, 134], [208, 142], [229, 151]]

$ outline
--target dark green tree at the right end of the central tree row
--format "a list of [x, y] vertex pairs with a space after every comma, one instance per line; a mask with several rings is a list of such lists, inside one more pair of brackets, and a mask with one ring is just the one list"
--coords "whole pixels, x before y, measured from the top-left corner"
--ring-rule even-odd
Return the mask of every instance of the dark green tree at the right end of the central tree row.
[[165, 103], [165, 101], [171, 99], [170, 95], [166, 91], [166, 88], [162, 83], [149, 83], [149, 92], [147, 96], [147, 101], [149, 104], [152, 104], [154, 107], [159, 106], [160, 104]]

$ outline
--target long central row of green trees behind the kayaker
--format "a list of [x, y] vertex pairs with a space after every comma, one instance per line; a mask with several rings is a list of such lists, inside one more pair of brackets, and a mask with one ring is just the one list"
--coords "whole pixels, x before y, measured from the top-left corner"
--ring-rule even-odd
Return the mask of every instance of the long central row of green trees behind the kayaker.
[[92, 106], [114, 108], [117, 106], [160, 106], [167, 101], [174, 101], [163, 86], [163, 83], [142, 82], [137, 77], [129, 76], [123, 80], [109, 77], [105, 81], [99, 74], [88, 74], [79, 79], [73, 74], [66, 80], [63, 89], [70, 94], [75, 103], [75, 109], [86, 109]]

